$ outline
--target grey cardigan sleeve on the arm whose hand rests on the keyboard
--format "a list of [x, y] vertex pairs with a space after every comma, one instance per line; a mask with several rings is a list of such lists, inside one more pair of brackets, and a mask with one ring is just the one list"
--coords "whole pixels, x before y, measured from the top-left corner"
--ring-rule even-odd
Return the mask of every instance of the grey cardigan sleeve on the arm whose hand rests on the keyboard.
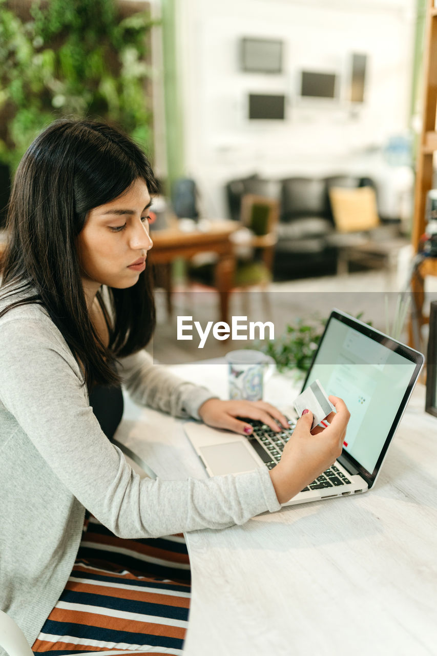
[[206, 387], [182, 380], [156, 365], [144, 350], [119, 359], [117, 371], [131, 398], [138, 405], [148, 405], [173, 417], [200, 419], [199, 407], [215, 398]]

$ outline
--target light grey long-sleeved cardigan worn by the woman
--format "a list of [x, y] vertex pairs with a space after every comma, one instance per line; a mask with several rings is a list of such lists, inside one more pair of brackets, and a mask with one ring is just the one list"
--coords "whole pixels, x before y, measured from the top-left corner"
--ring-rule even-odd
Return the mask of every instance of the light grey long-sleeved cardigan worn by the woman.
[[[0, 311], [12, 301], [4, 292]], [[175, 417], [199, 419], [213, 396], [145, 351], [120, 359], [118, 371], [136, 403]], [[264, 467], [209, 480], [140, 479], [102, 432], [82, 382], [42, 306], [0, 318], [0, 608], [30, 645], [68, 580], [85, 508], [125, 538], [220, 529], [280, 508]]]

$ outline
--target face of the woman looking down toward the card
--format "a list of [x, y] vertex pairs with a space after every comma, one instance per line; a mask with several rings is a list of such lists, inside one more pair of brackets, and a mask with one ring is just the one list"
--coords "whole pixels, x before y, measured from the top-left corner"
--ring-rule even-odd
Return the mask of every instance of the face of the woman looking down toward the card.
[[[88, 299], [100, 285], [125, 289], [135, 285], [144, 271], [149, 235], [150, 194], [138, 178], [110, 203], [94, 207], [77, 237], [81, 277]], [[141, 265], [130, 266], [137, 260]]]

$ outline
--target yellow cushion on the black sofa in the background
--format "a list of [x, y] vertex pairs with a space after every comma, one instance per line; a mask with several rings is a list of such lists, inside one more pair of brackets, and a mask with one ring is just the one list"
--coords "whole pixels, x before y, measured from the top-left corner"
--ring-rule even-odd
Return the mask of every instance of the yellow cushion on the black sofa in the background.
[[339, 232], [359, 232], [379, 226], [376, 195], [372, 187], [331, 187], [329, 199]]

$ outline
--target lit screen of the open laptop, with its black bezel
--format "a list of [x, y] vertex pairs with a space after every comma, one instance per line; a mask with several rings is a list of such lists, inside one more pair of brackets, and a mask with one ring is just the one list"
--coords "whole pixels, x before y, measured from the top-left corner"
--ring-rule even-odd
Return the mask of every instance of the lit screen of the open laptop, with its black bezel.
[[382, 458], [378, 461], [396, 430], [422, 363], [423, 356], [413, 349], [348, 315], [331, 313], [303, 389], [319, 379], [328, 395], [344, 400], [350, 420], [343, 453], [368, 476], [377, 474], [375, 468], [382, 462]]

